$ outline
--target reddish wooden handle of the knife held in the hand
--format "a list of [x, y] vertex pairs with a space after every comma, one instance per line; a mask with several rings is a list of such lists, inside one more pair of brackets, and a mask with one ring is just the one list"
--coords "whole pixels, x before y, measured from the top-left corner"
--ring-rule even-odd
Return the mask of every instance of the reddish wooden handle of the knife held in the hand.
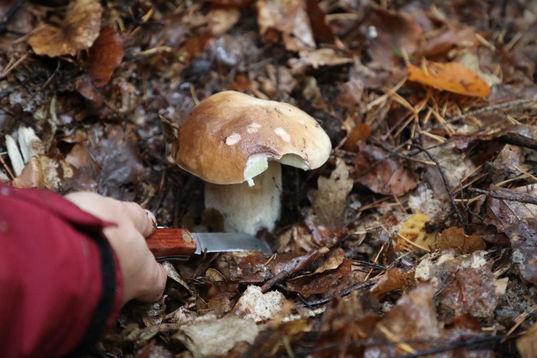
[[157, 228], [147, 238], [147, 246], [156, 258], [190, 257], [196, 251], [196, 241], [192, 233], [186, 229]]

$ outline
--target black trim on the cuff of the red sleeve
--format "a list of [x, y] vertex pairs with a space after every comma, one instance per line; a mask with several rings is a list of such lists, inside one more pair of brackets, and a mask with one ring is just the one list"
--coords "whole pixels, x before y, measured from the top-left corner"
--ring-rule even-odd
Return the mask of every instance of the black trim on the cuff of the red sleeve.
[[97, 244], [101, 257], [101, 272], [103, 275], [103, 290], [93, 317], [78, 346], [68, 355], [79, 356], [92, 349], [104, 332], [108, 317], [113, 309], [117, 282], [115, 280], [114, 253], [108, 240], [101, 233], [86, 234]]

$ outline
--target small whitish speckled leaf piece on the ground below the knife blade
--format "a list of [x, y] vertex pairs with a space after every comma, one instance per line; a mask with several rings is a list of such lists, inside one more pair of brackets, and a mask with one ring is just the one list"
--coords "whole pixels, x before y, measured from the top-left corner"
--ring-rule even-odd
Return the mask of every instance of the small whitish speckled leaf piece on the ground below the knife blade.
[[233, 308], [233, 313], [243, 319], [255, 322], [272, 319], [280, 313], [287, 300], [278, 291], [262, 293], [258, 286], [250, 285]]

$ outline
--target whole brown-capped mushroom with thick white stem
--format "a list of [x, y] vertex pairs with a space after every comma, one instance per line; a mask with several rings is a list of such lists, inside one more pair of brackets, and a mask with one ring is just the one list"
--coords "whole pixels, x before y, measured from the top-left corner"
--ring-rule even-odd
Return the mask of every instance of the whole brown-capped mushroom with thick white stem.
[[213, 94], [179, 128], [171, 155], [206, 181], [205, 208], [224, 217], [224, 230], [254, 235], [280, 215], [281, 164], [316, 169], [332, 145], [321, 126], [287, 103], [235, 91]]

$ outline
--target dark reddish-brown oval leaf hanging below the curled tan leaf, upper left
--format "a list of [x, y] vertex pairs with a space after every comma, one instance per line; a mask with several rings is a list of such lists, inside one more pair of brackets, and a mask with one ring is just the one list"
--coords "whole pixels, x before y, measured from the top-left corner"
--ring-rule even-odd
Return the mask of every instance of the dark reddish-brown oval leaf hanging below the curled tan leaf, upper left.
[[121, 63], [123, 57], [123, 40], [113, 27], [106, 26], [90, 48], [89, 74], [93, 84], [104, 86], [112, 72]]

